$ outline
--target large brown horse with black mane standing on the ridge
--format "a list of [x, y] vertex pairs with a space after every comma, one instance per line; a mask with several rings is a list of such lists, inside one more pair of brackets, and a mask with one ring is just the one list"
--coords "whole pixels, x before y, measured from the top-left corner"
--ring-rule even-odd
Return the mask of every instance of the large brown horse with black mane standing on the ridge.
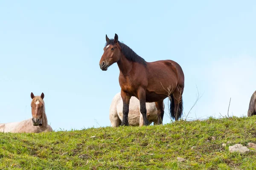
[[140, 100], [140, 112], [143, 124], [149, 125], [146, 117], [146, 102], [155, 102], [158, 124], [163, 120], [163, 100], [170, 96], [170, 112], [173, 119], [178, 120], [182, 115], [182, 94], [184, 88], [184, 74], [177, 62], [160, 60], [146, 62], [131, 48], [106, 35], [104, 53], [99, 61], [102, 71], [117, 62], [120, 70], [119, 84], [123, 101], [123, 119], [121, 125], [128, 125], [129, 102], [131, 96]]

